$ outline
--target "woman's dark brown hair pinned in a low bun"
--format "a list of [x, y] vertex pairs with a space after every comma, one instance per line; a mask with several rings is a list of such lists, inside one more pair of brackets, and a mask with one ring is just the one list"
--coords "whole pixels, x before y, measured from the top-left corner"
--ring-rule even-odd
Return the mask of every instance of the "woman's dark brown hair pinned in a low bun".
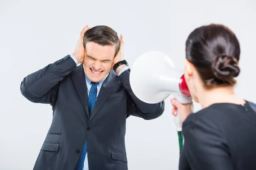
[[196, 28], [186, 40], [186, 59], [195, 66], [206, 88], [235, 85], [239, 58], [239, 41], [223, 25]]

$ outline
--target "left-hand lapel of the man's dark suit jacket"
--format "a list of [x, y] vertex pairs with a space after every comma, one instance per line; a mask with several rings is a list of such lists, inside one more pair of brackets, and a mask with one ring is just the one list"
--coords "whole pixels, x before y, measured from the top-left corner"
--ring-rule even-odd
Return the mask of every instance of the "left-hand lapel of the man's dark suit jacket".
[[74, 71], [71, 73], [71, 77], [73, 79], [74, 85], [76, 87], [76, 91], [81, 99], [81, 102], [84, 106], [84, 110], [87, 114], [87, 119], [89, 119], [89, 109], [88, 109], [88, 92], [87, 85], [85, 81], [84, 68], [83, 65], [79, 65]]

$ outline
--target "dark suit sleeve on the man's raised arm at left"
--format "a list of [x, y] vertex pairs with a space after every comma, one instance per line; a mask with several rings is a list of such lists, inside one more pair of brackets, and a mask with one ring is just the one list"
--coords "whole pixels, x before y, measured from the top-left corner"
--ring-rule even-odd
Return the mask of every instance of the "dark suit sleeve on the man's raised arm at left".
[[76, 68], [76, 62], [67, 55], [23, 79], [20, 91], [31, 102], [53, 105], [58, 96], [59, 82]]

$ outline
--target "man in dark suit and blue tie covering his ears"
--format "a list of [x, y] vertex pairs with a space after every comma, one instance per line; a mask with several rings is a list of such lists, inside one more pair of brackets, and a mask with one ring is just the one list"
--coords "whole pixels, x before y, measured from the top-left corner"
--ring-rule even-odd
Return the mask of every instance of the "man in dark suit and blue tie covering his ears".
[[86, 26], [73, 54], [23, 79], [23, 96], [53, 110], [34, 170], [128, 169], [126, 118], [155, 119], [164, 102], [146, 104], [134, 95], [123, 46], [113, 29]]

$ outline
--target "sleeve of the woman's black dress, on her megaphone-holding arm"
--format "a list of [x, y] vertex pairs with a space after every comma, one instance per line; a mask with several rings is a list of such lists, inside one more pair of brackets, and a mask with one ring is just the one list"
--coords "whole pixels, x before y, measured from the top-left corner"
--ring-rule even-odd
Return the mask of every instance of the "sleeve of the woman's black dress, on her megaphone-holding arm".
[[210, 118], [185, 121], [182, 131], [184, 154], [192, 170], [233, 170], [226, 139]]

